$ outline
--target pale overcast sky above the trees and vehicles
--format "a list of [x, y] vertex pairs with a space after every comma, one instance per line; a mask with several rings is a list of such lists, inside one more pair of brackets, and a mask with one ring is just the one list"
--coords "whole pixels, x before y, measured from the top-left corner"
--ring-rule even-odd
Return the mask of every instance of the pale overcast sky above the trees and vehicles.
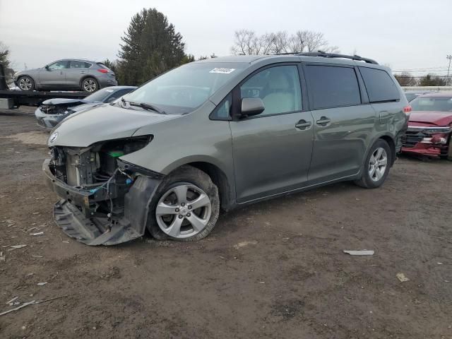
[[243, 28], [323, 32], [340, 52], [394, 71], [444, 73], [452, 54], [452, 0], [0, 0], [0, 41], [17, 70], [69, 57], [116, 59], [121, 35], [143, 7], [164, 13], [196, 57], [230, 54], [234, 30]]

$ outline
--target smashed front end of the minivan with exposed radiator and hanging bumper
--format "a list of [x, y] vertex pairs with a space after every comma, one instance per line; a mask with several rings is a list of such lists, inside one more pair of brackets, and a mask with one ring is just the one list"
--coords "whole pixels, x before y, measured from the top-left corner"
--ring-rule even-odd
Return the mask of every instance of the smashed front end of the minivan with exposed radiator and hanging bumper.
[[52, 158], [43, 169], [61, 197], [54, 206], [55, 222], [69, 237], [88, 245], [113, 245], [144, 234], [150, 198], [162, 174], [120, 157], [151, 140], [138, 136], [86, 148], [51, 148]]

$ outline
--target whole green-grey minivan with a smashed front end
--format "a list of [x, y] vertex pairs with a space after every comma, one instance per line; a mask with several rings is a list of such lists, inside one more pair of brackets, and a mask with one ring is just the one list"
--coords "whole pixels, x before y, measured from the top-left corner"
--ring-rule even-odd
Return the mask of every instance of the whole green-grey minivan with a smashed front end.
[[333, 182], [381, 186], [410, 106], [376, 61], [323, 52], [196, 61], [49, 136], [57, 225], [89, 245], [194, 241], [221, 210]]

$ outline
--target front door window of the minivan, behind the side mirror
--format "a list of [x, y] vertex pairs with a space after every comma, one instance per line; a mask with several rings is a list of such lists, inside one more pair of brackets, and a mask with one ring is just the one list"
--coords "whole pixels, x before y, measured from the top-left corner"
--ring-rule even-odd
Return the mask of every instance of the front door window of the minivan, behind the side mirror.
[[297, 66], [275, 66], [251, 76], [240, 86], [241, 99], [260, 97], [265, 107], [259, 114], [280, 114], [302, 110], [302, 91]]

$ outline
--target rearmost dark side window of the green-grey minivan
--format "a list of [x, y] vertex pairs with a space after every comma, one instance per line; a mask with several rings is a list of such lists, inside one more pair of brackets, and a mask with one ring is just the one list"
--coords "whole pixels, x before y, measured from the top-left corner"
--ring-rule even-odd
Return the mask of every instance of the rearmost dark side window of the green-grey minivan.
[[370, 102], [400, 100], [397, 85], [391, 76], [382, 69], [359, 67]]

